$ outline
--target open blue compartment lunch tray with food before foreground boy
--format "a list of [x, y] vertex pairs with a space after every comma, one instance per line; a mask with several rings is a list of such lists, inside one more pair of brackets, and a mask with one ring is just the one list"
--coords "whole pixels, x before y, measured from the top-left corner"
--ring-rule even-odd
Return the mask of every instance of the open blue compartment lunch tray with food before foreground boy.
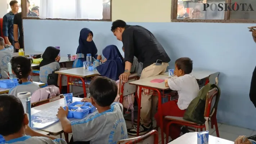
[[[77, 119], [82, 119], [85, 118], [89, 113], [93, 113], [96, 111], [96, 108], [91, 104], [91, 103], [85, 103], [84, 106], [80, 107], [84, 111], [82, 112], [76, 112], [76, 111], [71, 111], [71, 109], [78, 109], [79, 107], [75, 107], [75, 105], [81, 104], [83, 105], [84, 102], [73, 102], [68, 105], [68, 116], [67, 118], [77, 118]], [[66, 107], [63, 107], [66, 109]]]

